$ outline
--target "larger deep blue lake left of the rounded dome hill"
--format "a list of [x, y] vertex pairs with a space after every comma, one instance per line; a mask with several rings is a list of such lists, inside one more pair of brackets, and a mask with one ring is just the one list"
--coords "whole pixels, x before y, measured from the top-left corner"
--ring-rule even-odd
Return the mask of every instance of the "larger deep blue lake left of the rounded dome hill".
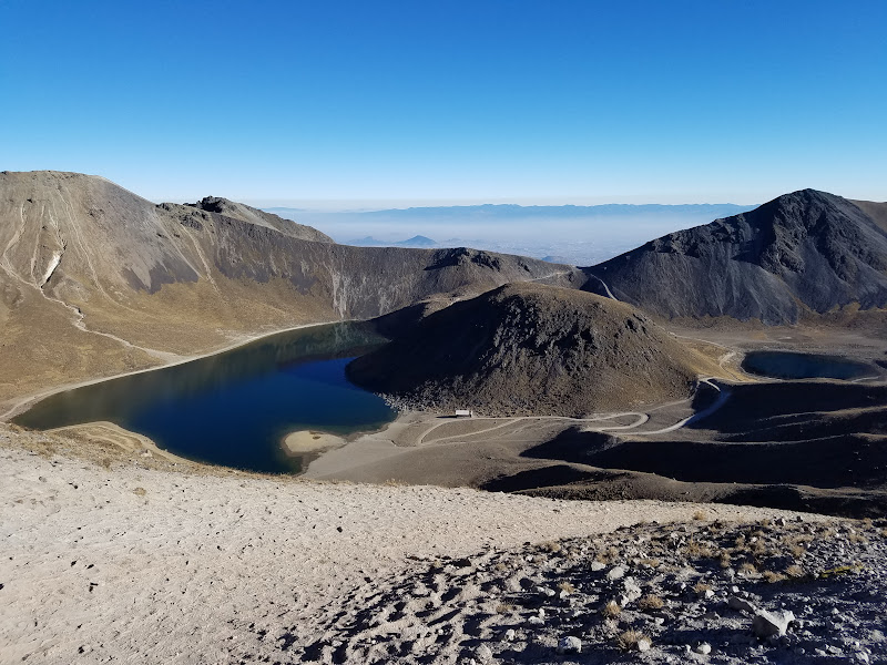
[[293, 473], [294, 430], [338, 436], [379, 429], [396, 413], [345, 378], [345, 366], [386, 338], [368, 324], [314, 326], [182, 365], [59, 392], [13, 419], [32, 429], [109, 420], [181, 457]]

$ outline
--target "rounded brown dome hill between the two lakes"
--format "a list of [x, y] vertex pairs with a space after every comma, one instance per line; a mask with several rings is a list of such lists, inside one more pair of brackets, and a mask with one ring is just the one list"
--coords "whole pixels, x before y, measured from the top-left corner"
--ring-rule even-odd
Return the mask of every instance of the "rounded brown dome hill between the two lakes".
[[633, 307], [537, 284], [450, 305], [347, 368], [411, 407], [560, 416], [686, 397], [701, 370]]

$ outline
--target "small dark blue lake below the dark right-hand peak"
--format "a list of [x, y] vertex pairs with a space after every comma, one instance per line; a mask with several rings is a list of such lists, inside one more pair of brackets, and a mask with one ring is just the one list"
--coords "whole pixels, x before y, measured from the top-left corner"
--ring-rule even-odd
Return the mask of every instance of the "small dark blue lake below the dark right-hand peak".
[[751, 351], [742, 368], [748, 374], [775, 379], [861, 379], [879, 372], [867, 362], [842, 356], [792, 351]]

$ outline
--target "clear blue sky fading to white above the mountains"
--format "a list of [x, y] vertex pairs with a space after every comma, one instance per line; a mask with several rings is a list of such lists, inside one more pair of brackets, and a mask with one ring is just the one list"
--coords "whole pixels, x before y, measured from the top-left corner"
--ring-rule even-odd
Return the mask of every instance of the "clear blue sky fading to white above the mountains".
[[0, 0], [0, 170], [154, 201], [887, 200], [887, 2]]

